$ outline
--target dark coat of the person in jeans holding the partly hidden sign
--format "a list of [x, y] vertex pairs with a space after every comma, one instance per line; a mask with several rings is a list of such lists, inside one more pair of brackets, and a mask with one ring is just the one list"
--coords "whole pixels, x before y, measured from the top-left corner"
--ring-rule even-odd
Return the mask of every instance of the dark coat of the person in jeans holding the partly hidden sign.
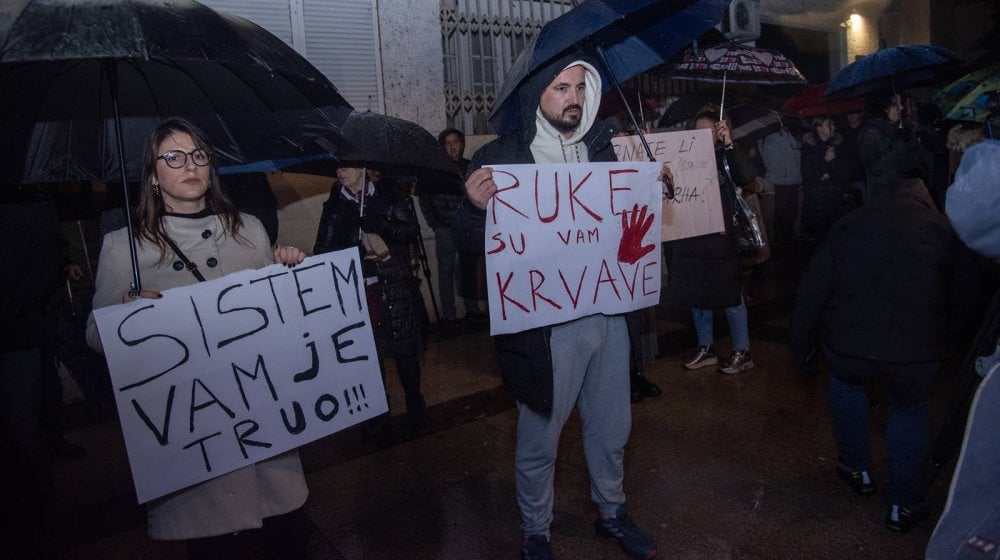
[[[746, 153], [734, 146], [731, 150], [715, 150], [719, 172], [719, 189], [725, 231], [678, 239], [667, 243], [669, 284], [666, 298], [672, 303], [709, 309], [739, 305], [743, 286], [740, 283], [742, 260], [736, 254], [731, 235], [735, 184], [745, 185], [757, 176], [757, 170]], [[726, 174], [723, 162], [729, 163]]]

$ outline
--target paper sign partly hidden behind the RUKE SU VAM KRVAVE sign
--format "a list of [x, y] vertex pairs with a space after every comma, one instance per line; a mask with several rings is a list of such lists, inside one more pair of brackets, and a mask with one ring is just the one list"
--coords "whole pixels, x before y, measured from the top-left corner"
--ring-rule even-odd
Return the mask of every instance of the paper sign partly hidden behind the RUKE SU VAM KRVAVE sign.
[[[674, 198], [664, 200], [663, 241], [718, 233], [725, 229], [712, 132], [681, 130], [646, 134], [656, 161], [674, 176]], [[619, 161], [649, 161], [638, 136], [612, 140]]]

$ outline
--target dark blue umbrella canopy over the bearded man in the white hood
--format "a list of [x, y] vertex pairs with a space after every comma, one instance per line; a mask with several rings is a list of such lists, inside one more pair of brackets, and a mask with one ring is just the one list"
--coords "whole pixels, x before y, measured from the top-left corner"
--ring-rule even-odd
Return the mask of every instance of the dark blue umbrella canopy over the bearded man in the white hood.
[[514, 93], [554, 59], [581, 50], [606, 61], [604, 91], [665, 62], [718, 24], [728, 0], [586, 0], [542, 27], [518, 56], [497, 94], [490, 124], [514, 130], [521, 101]]

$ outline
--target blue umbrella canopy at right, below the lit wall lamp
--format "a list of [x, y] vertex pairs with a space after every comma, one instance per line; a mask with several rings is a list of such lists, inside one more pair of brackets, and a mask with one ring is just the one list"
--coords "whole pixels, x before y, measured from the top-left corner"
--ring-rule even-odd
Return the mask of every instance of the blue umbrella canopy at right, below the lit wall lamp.
[[859, 96], [879, 89], [903, 90], [940, 79], [962, 59], [937, 45], [902, 45], [875, 51], [845, 66], [826, 95]]

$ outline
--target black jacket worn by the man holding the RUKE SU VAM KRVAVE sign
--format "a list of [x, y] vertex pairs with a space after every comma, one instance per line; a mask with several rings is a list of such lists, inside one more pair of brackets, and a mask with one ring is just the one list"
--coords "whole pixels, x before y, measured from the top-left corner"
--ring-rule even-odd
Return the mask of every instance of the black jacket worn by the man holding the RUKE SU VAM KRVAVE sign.
[[[523, 107], [530, 107], [531, 110], [521, 115], [520, 128], [480, 148], [472, 157], [469, 173], [488, 164], [535, 162], [531, 141], [535, 137], [534, 111], [541, 92], [567, 64], [581, 58], [586, 59], [579, 54], [562, 57], [521, 86], [519, 95], [523, 99], [534, 99], [534, 105], [522, 103]], [[597, 63], [592, 64], [599, 67]], [[583, 139], [590, 161], [616, 161], [611, 145], [613, 135], [614, 128], [610, 124], [602, 121], [594, 123]], [[484, 253], [485, 226], [486, 212], [473, 206], [468, 198], [463, 200], [455, 212], [452, 226], [455, 247], [459, 251]], [[500, 372], [507, 388], [518, 401], [545, 415], [552, 412], [551, 332], [550, 327], [541, 327], [494, 337]]]

